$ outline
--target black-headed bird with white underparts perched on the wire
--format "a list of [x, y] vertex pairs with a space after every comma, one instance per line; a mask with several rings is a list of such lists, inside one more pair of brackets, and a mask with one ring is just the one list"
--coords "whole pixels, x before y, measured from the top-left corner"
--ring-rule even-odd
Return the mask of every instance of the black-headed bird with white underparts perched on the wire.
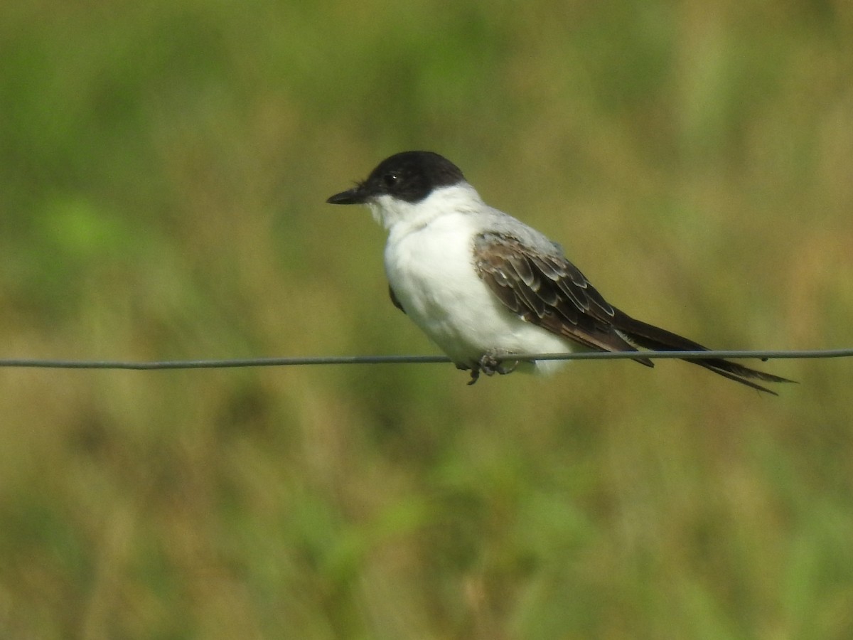
[[[392, 303], [470, 372], [469, 385], [481, 373], [548, 374], [562, 364], [519, 362], [514, 354], [636, 352], [636, 362], [653, 367], [641, 348], [708, 351], [607, 302], [560, 244], [487, 205], [440, 154], [394, 154], [327, 202], [365, 205], [385, 227]], [[756, 381], [791, 382], [723, 358], [683, 359], [774, 395]]]

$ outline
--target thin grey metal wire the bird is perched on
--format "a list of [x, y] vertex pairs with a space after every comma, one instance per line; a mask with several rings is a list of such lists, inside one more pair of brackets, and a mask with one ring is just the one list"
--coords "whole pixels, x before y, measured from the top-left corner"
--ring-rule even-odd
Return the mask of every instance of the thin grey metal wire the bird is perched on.
[[[851, 349], [814, 351], [643, 351], [643, 352], [577, 352], [514, 353], [512, 360], [622, 360], [636, 358], [757, 358], [764, 362], [792, 358], [851, 358]], [[125, 360], [39, 360], [32, 358], [0, 359], [0, 368], [28, 369], [228, 369], [236, 367], [293, 367], [314, 364], [425, 364], [449, 363], [446, 356], [307, 356], [305, 358], [242, 358], [225, 360], [161, 360], [131, 362]]]

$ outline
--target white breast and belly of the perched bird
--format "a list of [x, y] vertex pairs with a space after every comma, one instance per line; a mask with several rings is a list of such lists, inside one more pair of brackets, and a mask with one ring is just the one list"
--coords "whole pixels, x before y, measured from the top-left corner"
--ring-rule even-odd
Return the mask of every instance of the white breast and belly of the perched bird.
[[[473, 367], [485, 353], [568, 352], [577, 349], [509, 311], [473, 265], [473, 233], [464, 214], [432, 220], [389, 237], [388, 281], [406, 314], [456, 364]], [[537, 363], [554, 369], [556, 361]]]

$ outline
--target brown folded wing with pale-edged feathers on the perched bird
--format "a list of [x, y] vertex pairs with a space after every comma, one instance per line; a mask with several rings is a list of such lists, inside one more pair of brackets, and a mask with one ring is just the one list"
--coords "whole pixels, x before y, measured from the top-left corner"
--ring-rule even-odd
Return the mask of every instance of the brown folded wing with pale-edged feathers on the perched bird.
[[[474, 238], [474, 265], [498, 300], [526, 322], [591, 349], [637, 351], [613, 326], [619, 311], [560, 253], [486, 231]], [[648, 358], [635, 360], [653, 366]]]

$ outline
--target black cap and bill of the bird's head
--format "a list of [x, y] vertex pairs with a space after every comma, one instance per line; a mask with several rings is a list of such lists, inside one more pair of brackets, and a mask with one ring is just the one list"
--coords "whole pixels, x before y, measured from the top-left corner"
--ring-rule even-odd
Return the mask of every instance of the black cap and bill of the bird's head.
[[432, 189], [464, 180], [459, 167], [432, 151], [403, 151], [382, 160], [363, 183], [327, 202], [333, 205], [360, 205], [377, 195], [392, 195], [406, 202], [420, 202]]

